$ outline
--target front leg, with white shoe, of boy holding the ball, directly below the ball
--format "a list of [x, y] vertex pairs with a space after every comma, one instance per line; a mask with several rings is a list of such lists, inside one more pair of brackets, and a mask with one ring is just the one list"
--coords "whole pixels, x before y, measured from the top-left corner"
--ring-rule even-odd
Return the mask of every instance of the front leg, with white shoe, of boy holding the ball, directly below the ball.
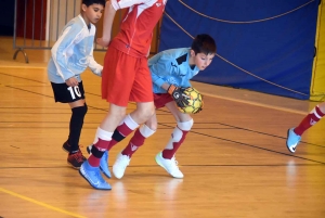
[[177, 127], [173, 129], [171, 138], [165, 150], [156, 155], [156, 162], [172, 177], [183, 178], [184, 175], [179, 169], [174, 155], [185, 140], [187, 132], [191, 130], [193, 126], [193, 119], [188, 114], [181, 113], [176, 106], [174, 102], [167, 103], [166, 107], [174, 116], [177, 120]]

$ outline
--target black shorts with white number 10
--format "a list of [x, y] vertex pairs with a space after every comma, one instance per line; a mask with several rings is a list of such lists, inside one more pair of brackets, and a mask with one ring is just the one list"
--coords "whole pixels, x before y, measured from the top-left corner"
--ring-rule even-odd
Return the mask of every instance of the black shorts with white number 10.
[[68, 87], [66, 84], [51, 82], [55, 102], [70, 103], [84, 99], [82, 81], [78, 86]]

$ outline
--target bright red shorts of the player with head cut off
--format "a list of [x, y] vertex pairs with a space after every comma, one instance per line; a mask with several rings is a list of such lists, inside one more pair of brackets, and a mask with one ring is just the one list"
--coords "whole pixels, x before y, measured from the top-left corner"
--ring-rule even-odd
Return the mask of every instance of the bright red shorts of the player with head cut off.
[[153, 82], [147, 59], [130, 56], [109, 47], [102, 72], [102, 99], [118, 106], [128, 102], [152, 102]]

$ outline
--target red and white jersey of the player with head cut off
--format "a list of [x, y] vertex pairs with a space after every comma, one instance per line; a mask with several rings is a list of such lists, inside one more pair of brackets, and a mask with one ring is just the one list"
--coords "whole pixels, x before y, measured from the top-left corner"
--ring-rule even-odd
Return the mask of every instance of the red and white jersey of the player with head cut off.
[[115, 10], [129, 8], [120, 31], [109, 46], [132, 56], [147, 56], [153, 29], [160, 20], [167, 0], [112, 0]]

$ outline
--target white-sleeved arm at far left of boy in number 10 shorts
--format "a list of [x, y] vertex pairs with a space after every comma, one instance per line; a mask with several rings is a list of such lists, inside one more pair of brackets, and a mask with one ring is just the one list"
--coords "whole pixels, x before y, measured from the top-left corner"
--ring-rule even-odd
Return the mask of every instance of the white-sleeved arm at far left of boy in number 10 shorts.
[[[74, 78], [75, 74], [67, 66], [67, 51], [70, 44], [74, 44], [76, 37], [80, 34], [81, 29], [76, 28], [74, 25], [64, 29], [57, 41], [51, 49], [52, 60], [56, 66], [57, 74], [64, 81]], [[76, 81], [70, 85], [75, 85]], [[78, 85], [78, 84], [77, 84]], [[69, 85], [68, 85], [69, 86]], [[75, 85], [76, 86], [76, 85]]]

